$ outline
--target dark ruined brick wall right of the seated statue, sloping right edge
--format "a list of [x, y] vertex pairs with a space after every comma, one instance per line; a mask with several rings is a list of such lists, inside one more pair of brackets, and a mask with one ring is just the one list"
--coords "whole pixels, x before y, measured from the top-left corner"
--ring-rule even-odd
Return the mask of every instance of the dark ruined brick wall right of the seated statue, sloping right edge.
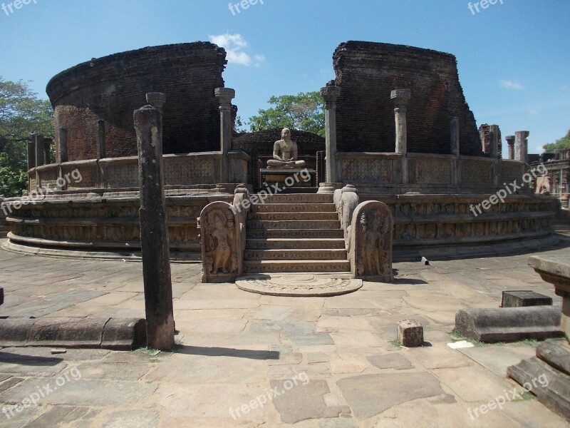
[[411, 90], [408, 151], [450, 153], [450, 122], [460, 121], [460, 153], [480, 156], [475, 118], [465, 102], [455, 56], [410, 46], [348, 41], [333, 54], [338, 151], [393, 152], [390, 91]]

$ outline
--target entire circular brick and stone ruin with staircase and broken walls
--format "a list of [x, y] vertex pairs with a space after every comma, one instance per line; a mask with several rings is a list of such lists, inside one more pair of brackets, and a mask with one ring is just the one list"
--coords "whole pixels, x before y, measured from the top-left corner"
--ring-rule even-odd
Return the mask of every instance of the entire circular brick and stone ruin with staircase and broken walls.
[[53, 77], [56, 159], [46, 156], [50, 141], [32, 136], [28, 182], [38, 198], [4, 201], [6, 246], [140, 256], [132, 113], [152, 92], [168, 100], [162, 162], [171, 258], [202, 260], [204, 281], [259, 272], [391, 280], [391, 260], [419, 260], [426, 250], [457, 256], [490, 243], [508, 250], [554, 239], [555, 198], [528, 185], [492, 199], [529, 170], [529, 132], [507, 137], [512, 156], [500, 158], [499, 128], [480, 135], [451, 54], [338, 46], [336, 79], [321, 89], [326, 138], [291, 130], [299, 168], [282, 180], [267, 168], [281, 129], [232, 133], [237, 106], [222, 78], [225, 54], [203, 42], [155, 46]]

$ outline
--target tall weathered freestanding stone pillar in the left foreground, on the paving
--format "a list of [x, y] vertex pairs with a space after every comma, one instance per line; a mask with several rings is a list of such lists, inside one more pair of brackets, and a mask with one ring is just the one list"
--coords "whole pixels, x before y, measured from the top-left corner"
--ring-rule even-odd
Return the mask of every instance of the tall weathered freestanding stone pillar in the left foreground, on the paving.
[[162, 168], [162, 111], [157, 108], [165, 95], [159, 95], [147, 94], [151, 105], [135, 110], [133, 118], [140, 175], [140, 246], [147, 347], [170, 350], [175, 344], [175, 326]]

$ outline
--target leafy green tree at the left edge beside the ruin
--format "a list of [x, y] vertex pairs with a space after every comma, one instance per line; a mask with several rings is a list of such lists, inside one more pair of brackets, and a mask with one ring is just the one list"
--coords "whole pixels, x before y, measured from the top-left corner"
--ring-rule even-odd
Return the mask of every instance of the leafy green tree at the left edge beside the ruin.
[[27, 141], [31, 133], [53, 137], [53, 109], [27, 83], [0, 76], [0, 195], [19, 196], [27, 187]]

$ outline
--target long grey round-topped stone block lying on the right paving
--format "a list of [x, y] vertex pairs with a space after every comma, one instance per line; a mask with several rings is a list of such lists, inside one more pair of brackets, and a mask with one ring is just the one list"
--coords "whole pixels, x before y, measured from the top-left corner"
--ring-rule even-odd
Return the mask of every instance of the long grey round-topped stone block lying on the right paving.
[[560, 314], [559, 305], [467, 308], [455, 314], [455, 331], [480, 342], [561, 337]]

